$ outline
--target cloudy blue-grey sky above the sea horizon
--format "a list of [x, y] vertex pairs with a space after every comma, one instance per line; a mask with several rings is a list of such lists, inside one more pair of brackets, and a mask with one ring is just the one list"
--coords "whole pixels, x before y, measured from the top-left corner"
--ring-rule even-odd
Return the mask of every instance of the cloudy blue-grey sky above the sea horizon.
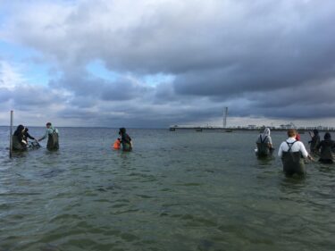
[[333, 0], [0, 0], [0, 125], [335, 126]]

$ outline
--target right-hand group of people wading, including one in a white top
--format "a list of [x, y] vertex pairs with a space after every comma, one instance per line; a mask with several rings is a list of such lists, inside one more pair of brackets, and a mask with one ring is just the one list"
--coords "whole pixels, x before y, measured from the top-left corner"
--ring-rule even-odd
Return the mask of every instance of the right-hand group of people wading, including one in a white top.
[[[264, 132], [259, 135], [256, 140], [256, 155], [259, 157], [271, 156], [274, 148], [272, 146], [272, 138], [270, 136], [270, 129], [265, 128]], [[281, 143], [278, 150], [278, 156], [281, 157], [283, 163], [283, 171], [288, 175], [297, 173], [298, 175], [305, 175], [304, 159], [314, 161], [314, 157], [319, 156], [321, 163], [333, 163], [333, 153], [335, 152], [335, 141], [331, 140], [331, 134], [326, 132], [324, 139], [320, 140], [318, 130], [310, 132], [311, 140], [310, 152], [308, 153], [304, 143], [300, 141], [300, 135], [295, 129], [288, 130], [288, 137]]]

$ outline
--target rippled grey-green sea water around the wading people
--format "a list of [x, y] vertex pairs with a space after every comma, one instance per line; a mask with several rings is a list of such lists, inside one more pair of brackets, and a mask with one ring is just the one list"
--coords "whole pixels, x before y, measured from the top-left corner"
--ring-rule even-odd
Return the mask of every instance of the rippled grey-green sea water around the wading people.
[[335, 165], [285, 178], [256, 132], [129, 130], [121, 153], [117, 130], [59, 130], [58, 152], [9, 159], [0, 127], [1, 251], [335, 250]]

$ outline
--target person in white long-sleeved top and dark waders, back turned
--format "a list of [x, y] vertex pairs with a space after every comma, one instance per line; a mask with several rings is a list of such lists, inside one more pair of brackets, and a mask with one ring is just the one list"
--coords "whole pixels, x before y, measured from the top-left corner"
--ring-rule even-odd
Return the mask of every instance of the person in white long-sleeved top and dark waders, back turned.
[[305, 175], [306, 168], [303, 158], [314, 160], [311, 155], [308, 155], [304, 143], [297, 141], [297, 131], [294, 129], [288, 130], [289, 138], [281, 143], [278, 151], [278, 156], [281, 157], [283, 171], [287, 176]]

